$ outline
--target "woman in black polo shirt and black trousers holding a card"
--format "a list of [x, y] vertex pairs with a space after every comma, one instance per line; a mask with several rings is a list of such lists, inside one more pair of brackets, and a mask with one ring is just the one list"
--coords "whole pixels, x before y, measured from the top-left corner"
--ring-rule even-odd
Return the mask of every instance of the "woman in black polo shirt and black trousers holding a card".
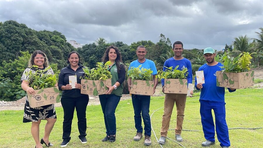
[[[80, 79], [84, 76], [83, 66], [79, 64], [79, 54], [76, 51], [70, 52], [68, 55], [67, 67], [61, 69], [58, 76], [58, 88], [62, 90], [61, 105], [64, 110], [63, 121], [63, 142], [61, 147], [66, 147], [70, 141], [71, 124], [73, 119], [74, 110], [76, 108], [78, 118], [79, 140], [81, 143], [86, 143], [86, 108], [89, 102], [89, 95], [80, 93]], [[69, 76], [77, 75], [77, 82], [74, 86], [69, 83]], [[73, 87], [73, 88], [72, 88]]]

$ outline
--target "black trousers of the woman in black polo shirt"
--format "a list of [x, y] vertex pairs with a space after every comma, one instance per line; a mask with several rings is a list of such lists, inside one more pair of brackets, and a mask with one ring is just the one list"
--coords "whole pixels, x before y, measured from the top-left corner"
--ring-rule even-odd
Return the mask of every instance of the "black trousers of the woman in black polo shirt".
[[71, 125], [74, 115], [74, 110], [76, 108], [77, 118], [78, 118], [78, 129], [79, 129], [79, 138], [85, 137], [87, 122], [86, 122], [86, 108], [89, 102], [89, 96], [81, 97], [61, 97], [61, 105], [64, 111], [64, 121], [63, 121], [63, 136], [62, 139], [70, 140]]

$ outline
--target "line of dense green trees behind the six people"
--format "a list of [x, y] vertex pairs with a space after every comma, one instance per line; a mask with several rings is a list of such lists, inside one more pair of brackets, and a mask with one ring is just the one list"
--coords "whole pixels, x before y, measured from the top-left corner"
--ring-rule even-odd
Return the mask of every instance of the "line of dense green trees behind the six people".
[[[243, 51], [257, 52], [253, 56], [253, 64], [263, 65], [263, 28], [260, 28], [260, 31], [256, 32], [259, 39], [250, 39], [247, 36], [235, 38], [233, 44], [226, 44], [225, 52], [233, 52], [233, 54]], [[172, 42], [163, 34], [160, 34], [157, 43], [142, 40], [130, 45], [121, 41], [108, 43], [104, 38], [99, 37], [94, 43], [85, 44], [77, 49], [66, 41], [66, 37], [58, 31], [36, 31], [13, 20], [0, 22], [0, 99], [14, 101], [26, 95], [21, 88], [20, 78], [27, 67], [30, 55], [35, 50], [41, 50], [47, 55], [56, 74], [67, 66], [68, 53], [71, 51], [80, 54], [82, 65], [93, 68], [97, 62], [101, 62], [105, 50], [110, 45], [120, 49], [123, 63], [136, 60], [136, 48], [139, 45], [145, 46], [148, 51], [146, 58], [154, 61], [157, 69], [162, 69], [165, 60], [174, 56]], [[218, 52], [218, 55], [222, 54], [222, 51]], [[184, 50], [183, 56], [191, 61], [193, 73], [205, 63], [203, 50]], [[124, 94], [126, 93], [128, 92], [124, 88]]]

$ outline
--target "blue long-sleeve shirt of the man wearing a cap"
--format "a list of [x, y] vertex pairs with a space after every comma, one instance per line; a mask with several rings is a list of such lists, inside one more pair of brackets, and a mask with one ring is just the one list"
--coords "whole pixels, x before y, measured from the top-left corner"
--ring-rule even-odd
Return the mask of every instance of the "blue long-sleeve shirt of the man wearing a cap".
[[[202, 85], [200, 100], [207, 101], [216, 101], [216, 102], [224, 102], [225, 101], [225, 88], [217, 86], [217, 71], [222, 70], [219, 66], [223, 66], [222, 63], [219, 63], [214, 66], [209, 66], [206, 63], [202, 65], [198, 71], [203, 70], [205, 76], [205, 83]], [[196, 77], [195, 77], [195, 88], [197, 85]], [[196, 88], [199, 90], [198, 88]], [[229, 92], [234, 92], [236, 90], [231, 91], [228, 88]]]

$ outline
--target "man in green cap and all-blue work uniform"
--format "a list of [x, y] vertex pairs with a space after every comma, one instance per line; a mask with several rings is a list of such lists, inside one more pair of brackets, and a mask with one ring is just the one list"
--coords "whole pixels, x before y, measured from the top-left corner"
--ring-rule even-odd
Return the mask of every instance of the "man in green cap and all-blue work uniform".
[[[217, 87], [216, 72], [222, 70], [219, 66], [221, 63], [214, 60], [215, 51], [211, 47], [204, 49], [204, 57], [207, 61], [202, 65], [198, 71], [203, 70], [205, 76], [205, 83], [198, 83], [195, 77], [195, 88], [201, 89], [200, 94], [200, 115], [203, 126], [203, 132], [206, 141], [202, 143], [203, 147], [209, 147], [215, 143], [214, 121], [212, 116], [212, 109], [215, 115], [215, 125], [217, 132], [217, 139], [220, 146], [227, 148], [230, 146], [228, 127], [226, 124], [226, 108], [225, 108], [225, 88]], [[234, 92], [236, 89], [228, 88], [229, 92]]]

